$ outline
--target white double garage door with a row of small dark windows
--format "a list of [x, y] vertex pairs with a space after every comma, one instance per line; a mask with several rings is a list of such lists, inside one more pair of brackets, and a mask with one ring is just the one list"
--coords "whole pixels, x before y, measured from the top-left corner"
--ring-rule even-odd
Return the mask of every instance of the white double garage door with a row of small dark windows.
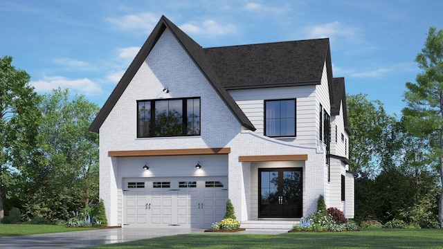
[[223, 219], [226, 177], [127, 178], [123, 224], [134, 228], [210, 228]]

